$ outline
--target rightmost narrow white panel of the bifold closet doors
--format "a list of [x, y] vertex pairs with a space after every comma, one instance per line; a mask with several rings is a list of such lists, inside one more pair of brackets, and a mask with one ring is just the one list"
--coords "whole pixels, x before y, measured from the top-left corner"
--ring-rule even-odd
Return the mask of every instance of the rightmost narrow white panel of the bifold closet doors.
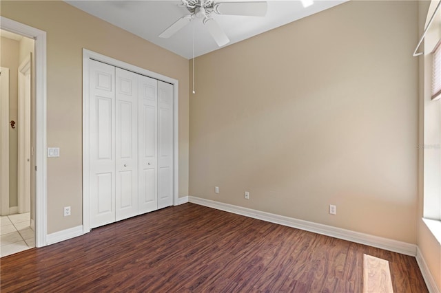
[[158, 208], [173, 204], [173, 85], [158, 80]]

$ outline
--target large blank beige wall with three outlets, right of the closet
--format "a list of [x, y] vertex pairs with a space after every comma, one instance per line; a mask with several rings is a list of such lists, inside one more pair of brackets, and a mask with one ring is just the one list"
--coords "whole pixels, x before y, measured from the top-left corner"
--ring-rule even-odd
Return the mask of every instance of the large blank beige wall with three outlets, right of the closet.
[[350, 1], [196, 58], [189, 195], [416, 243], [417, 21]]

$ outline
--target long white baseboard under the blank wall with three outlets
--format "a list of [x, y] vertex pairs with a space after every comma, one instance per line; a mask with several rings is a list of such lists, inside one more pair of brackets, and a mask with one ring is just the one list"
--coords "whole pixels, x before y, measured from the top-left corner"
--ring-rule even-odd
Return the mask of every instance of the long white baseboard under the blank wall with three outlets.
[[365, 244], [367, 246], [373, 246], [392, 252], [398, 252], [401, 254], [416, 256], [416, 245], [406, 243], [402, 241], [396, 241], [365, 233], [355, 232], [342, 228], [336, 228], [333, 226], [327, 226], [323, 224], [317, 224], [311, 221], [304, 221], [301, 219], [294, 219], [291, 217], [285, 217], [281, 215], [262, 212], [260, 210], [252, 210], [251, 208], [243, 208], [241, 206], [234, 206], [232, 204], [224, 204], [222, 202], [215, 202], [209, 199], [203, 199], [200, 197], [188, 197], [189, 202], [199, 204], [201, 206], [208, 206], [209, 208], [216, 208], [218, 210], [225, 210], [229, 213], [243, 215], [246, 217], [252, 217], [254, 219], [260, 219], [263, 221], [269, 221], [274, 224], [280, 224], [292, 228], [298, 228], [300, 230], [306, 230], [321, 235], [326, 235], [338, 239], [352, 241], [355, 243]]

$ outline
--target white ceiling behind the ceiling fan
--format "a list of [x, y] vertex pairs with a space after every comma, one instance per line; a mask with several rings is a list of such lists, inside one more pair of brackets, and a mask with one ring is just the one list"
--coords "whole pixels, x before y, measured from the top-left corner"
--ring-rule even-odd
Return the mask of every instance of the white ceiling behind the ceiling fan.
[[[245, 2], [249, 0], [237, 1]], [[255, 36], [256, 34], [261, 34], [281, 25], [296, 21], [297, 19], [302, 19], [303, 17], [334, 7], [345, 1], [348, 0], [314, 1], [312, 6], [304, 8], [301, 1], [269, 0], [267, 1], [268, 10], [265, 17], [241, 17], [216, 14], [214, 18], [230, 39], [230, 43], [227, 45], [231, 45]], [[184, 15], [189, 14], [188, 10], [178, 6], [181, 1], [65, 0], [65, 2], [187, 59], [193, 56], [193, 28], [196, 35], [195, 56], [207, 54], [208, 52], [219, 49], [218, 45], [212, 39], [212, 36], [204, 28], [201, 19], [195, 19], [169, 39], [161, 39], [158, 37], [158, 35], [172, 25], [172, 23]]]

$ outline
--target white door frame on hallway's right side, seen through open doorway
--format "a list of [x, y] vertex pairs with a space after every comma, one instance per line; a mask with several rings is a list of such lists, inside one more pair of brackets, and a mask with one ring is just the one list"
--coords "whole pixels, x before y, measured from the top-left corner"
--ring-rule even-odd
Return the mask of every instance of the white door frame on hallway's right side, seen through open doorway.
[[30, 212], [30, 55], [19, 66], [17, 199], [19, 213]]

